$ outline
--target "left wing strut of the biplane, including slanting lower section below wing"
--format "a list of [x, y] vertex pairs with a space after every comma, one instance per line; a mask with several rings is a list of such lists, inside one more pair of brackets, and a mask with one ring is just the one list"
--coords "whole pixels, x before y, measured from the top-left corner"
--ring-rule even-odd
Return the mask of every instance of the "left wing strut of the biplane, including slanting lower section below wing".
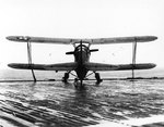
[[[28, 58], [28, 65], [31, 66], [32, 65], [32, 45], [31, 45], [31, 41], [28, 40], [27, 40], [27, 58]], [[33, 75], [34, 81], [36, 81], [33, 67], [32, 67], [32, 75]]]

